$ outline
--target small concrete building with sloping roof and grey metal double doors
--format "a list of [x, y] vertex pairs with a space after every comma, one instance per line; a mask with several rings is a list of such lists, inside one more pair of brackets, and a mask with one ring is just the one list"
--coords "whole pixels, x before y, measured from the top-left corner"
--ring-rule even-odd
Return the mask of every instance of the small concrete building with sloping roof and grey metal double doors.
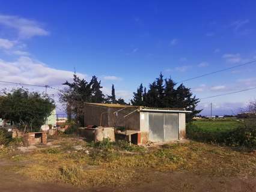
[[103, 103], [86, 103], [84, 109], [85, 125], [125, 128], [139, 133], [142, 144], [183, 139], [186, 113], [190, 111]]

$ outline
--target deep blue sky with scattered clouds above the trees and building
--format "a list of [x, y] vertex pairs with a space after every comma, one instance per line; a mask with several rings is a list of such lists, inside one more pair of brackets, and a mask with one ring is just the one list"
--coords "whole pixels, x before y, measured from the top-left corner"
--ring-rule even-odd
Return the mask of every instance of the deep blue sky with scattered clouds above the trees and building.
[[[0, 80], [62, 88], [74, 71], [132, 99], [162, 72], [175, 82], [256, 59], [256, 1], [2, 1]], [[184, 82], [197, 98], [256, 86], [256, 64]], [[20, 85], [1, 83], [1, 88]], [[34, 91], [44, 88], [30, 87]], [[58, 100], [58, 93], [49, 90]], [[201, 100], [237, 113], [256, 89]]]

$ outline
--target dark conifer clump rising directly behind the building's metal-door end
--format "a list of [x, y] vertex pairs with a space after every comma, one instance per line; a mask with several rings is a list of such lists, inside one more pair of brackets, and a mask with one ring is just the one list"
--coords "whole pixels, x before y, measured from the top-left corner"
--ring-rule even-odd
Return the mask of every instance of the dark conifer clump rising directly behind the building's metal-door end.
[[[183, 84], [175, 89], [176, 83], [171, 79], [163, 80], [163, 75], [160, 73], [159, 77], [149, 85], [147, 91], [143, 86], [139, 86], [137, 92], [133, 93], [133, 105], [138, 105], [142, 102], [142, 106], [147, 107], [159, 107], [159, 108], [184, 108], [192, 111], [187, 114], [187, 121], [191, 121], [193, 116], [201, 112], [197, 110], [197, 104], [200, 102], [195, 95], [192, 94], [189, 88], [186, 88]], [[142, 95], [142, 100], [140, 100]]]

